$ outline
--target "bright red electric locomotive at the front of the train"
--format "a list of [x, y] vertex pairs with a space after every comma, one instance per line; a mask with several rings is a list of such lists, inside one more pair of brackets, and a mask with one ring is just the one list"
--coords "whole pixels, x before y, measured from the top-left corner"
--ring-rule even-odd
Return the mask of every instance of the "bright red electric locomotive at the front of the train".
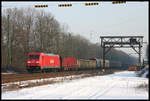
[[29, 53], [27, 58], [27, 70], [49, 71], [61, 69], [61, 57], [55, 54]]

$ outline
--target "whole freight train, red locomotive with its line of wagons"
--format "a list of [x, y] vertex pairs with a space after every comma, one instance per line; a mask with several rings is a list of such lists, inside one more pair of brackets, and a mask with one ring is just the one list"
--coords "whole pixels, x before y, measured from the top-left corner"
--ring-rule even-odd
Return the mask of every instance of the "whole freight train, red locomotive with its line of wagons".
[[[60, 55], [46, 53], [28, 53], [27, 56], [28, 72], [101, 69], [102, 66], [103, 60], [98, 58], [85, 60], [70, 56], [62, 59]], [[121, 67], [121, 63], [105, 60], [105, 68], [110, 67]]]

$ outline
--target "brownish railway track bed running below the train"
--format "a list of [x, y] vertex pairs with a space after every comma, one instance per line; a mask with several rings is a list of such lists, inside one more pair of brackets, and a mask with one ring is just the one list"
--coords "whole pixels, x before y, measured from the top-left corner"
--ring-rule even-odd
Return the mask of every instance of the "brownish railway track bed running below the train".
[[64, 71], [64, 72], [50, 72], [50, 73], [23, 73], [23, 74], [1, 74], [2, 84], [9, 82], [34, 80], [42, 78], [55, 78], [70, 75], [90, 74], [90, 75], [104, 75], [113, 73], [112, 70], [107, 70], [105, 73], [100, 70], [84, 70], [84, 71]]

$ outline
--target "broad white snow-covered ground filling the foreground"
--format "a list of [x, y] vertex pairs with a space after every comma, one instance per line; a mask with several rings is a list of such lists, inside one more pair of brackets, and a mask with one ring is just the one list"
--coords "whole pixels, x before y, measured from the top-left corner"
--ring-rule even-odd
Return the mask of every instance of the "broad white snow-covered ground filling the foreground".
[[133, 71], [87, 77], [17, 91], [2, 92], [2, 99], [148, 99], [148, 91], [137, 88], [148, 78]]

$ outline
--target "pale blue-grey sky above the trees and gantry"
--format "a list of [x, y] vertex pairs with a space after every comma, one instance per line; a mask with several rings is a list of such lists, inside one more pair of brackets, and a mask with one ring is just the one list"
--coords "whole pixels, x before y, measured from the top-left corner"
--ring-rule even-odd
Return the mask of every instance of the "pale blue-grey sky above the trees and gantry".
[[[89, 1], [87, 1], [89, 2]], [[98, 1], [96, 1], [98, 2]], [[72, 7], [58, 7], [58, 4], [71, 3]], [[47, 4], [44, 9], [50, 12], [68, 32], [80, 34], [91, 42], [100, 42], [100, 36], [144, 36], [148, 42], [148, 4], [149, 2], [130, 2], [112, 4], [99, 1], [98, 6], [85, 6], [85, 2], [2, 2], [2, 9], [9, 7], [34, 7], [34, 4]], [[143, 50], [145, 46], [143, 47]], [[122, 50], [122, 49], [120, 49]], [[123, 49], [135, 53], [133, 49]], [[143, 51], [144, 53], [144, 51]], [[136, 55], [138, 56], [138, 55]]]

